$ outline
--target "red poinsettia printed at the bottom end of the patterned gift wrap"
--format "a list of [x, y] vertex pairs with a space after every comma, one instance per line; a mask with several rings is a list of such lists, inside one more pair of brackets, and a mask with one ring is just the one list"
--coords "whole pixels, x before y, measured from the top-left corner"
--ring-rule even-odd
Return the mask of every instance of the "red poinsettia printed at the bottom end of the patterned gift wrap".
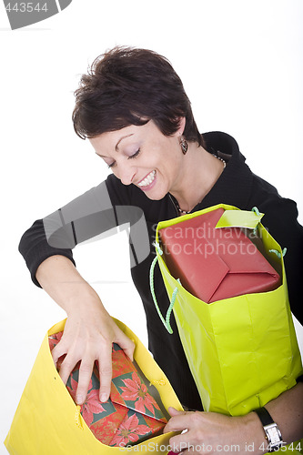
[[133, 414], [120, 424], [110, 445], [124, 447], [130, 442], [136, 442], [139, 436], [146, 435], [149, 431], [150, 429], [146, 425], [139, 425], [136, 414]]

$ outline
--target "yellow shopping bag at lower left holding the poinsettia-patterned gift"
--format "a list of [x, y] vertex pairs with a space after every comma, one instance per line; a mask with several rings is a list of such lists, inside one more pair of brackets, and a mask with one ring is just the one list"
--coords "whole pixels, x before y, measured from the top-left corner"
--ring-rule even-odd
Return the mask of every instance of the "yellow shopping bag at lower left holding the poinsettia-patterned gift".
[[[143, 346], [136, 335], [125, 324], [116, 324], [136, 345], [134, 359], [150, 384], [155, 386], [159, 397], [167, 408], [182, 407], [163, 371]], [[51, 351], [48, 337], [65, 327], [61, 321], [48, 330], [35, 359], [34, 367], [27, 380], [11, 429], [5, 439], [5, 446], [11, 455], [97, 455], [118, 454], [121, 450], [143, 453], [166, 454], [168, 440], [172, 433], [161, 434], [132, 447], [109, 447], [96, 440], [79, 413], [79, 407], [68, 393], [60, 379]]]

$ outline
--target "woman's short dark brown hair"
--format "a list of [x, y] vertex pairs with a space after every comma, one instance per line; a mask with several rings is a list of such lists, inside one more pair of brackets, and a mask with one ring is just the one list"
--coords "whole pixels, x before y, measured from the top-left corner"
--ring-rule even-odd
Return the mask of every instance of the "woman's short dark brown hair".
[[165, 136], [177, 131], [203, 145], [190, 101], [174, 68], [164, 56], [147, 49], [117, 46], [98, 56], [75, 92], [73, 122], [83, 139], [153, 120]]

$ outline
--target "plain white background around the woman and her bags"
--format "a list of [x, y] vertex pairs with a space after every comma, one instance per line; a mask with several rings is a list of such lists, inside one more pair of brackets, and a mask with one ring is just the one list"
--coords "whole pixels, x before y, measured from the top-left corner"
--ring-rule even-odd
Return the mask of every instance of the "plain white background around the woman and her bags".
[[[1, 3], [0, 440], [46, 330], [65, 318], [32, 284], [19, 239], [107, 173], [73, 130], [79, 76], [114, 45], [167, 56], [200, 131], [235, 136], [254, 172], [298, 202], [302, 223], [302, 20], [301, 0], [74, 0], [59, 15], [11, 31]], [[124, 236], [76, 248], [76, 262], [111, 314], [146, 342]]]

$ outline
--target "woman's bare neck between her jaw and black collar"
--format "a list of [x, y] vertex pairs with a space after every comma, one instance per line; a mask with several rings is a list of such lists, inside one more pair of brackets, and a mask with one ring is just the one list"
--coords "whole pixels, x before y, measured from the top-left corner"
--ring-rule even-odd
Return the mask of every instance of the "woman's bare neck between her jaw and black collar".
[[190, 211], [207, 195], [224, 170], [224, 163], [197, 143], [188, 143], [182, 170], [170, 193], [181, 210]]

